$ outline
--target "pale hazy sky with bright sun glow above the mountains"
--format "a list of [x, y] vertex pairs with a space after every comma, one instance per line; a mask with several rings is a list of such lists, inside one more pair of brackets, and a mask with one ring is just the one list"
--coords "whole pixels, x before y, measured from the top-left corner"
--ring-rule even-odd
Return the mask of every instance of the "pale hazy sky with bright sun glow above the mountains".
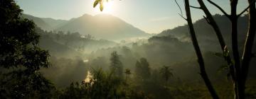
[[[42, 18], [65, 19], [77, 18], [83, 14], [96, 15], [109, 13], [117, 16], [127, 23], [146, 31], [146, 33], [160, 33], [162, 30], [175, 28], [186, 24], [178, 13], [178, 6], [174, 0], [110, 0], [105, 11], [93, 8], [94, 0], [16, 0], [24, 13]], [[177, 0], [183, 7], [183, 0]], [[197, 6], [196, 0], [190, 0], [191, 4]], [[225, 11], [230, 12], [229, 0], [213, 0], [220, 4]], [[205, 0], [212, 13], [220, 13], [218, 9], [211, 6]], [[247, 0], [240, 0], [238, 11], [247, 6]], [[185, 12], [183, 12], [185, 13]], [[202, 18], [203, 13], [198, 9], [192, 9], [193, 21]]]

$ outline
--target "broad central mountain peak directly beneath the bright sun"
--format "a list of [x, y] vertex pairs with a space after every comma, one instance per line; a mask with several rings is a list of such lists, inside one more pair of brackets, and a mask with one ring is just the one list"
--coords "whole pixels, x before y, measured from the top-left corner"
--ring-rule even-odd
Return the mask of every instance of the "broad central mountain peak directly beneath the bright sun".
[[96, 16], [85, 14], [79, 18], [73, 18], [73, 20], [70, 20], [56, 30], [90, 34], [105, 40], [123, 40], [149, 35], [129, 23], [107, 14], [99, 14]]

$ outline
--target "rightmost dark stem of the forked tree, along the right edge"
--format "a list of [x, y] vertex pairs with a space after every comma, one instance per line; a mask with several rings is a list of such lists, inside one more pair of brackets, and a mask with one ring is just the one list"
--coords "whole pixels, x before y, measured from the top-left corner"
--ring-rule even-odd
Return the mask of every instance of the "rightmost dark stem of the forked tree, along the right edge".
[[256, 8], [254, 0], [248, 0], [249, 8], [249, 28], [247, 37], [245, 40], [244, 52], [242, 54], [242, 73], [241, 73], [241, 92], [240, 95], [245, 97], [245, 83], [247, 79], [248, 69], [250, 66], [250, 60], [252, 58], [252, 47], [255, 40], [256, 33]]

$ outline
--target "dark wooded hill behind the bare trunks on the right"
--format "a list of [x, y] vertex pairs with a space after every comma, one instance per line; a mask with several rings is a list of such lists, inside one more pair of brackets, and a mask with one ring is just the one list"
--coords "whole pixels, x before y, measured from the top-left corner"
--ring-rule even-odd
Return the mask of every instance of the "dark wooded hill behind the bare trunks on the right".
[[[247, 18], [248, 16], [241, 16], [238, 18], [238, 42], [240, 45], [240, 50], [242, 51], [242, 47], [245, 42], [245, 36], [247, 35]], [[216, 14], [213, 16], [215, 18], [216, 23], [218, 23], [220, 31], [225, 39], [226, 44], [229, 48], [231, 48], [231, 25], [230, 21], [226, 16]], [[198, 37], [199, 45], [202, 46], [202, 49], [216, 51], [220, 50], [220, 45], [218, 42], [218, 38], [215, 34], [213, 28], [207, 23], [204, 18], [199, 19], [195, 23], [193, 23], [196, 36]], [[255, 27], [256, 28], [256, 27]], [[188, 33], [188, 25], [178, 26], [174, 29], [164, 30], [159, 33], [157, 36], [166, 36], [172, 35], [177, 37], [181, 41], [190, 42], [190, 35]]]

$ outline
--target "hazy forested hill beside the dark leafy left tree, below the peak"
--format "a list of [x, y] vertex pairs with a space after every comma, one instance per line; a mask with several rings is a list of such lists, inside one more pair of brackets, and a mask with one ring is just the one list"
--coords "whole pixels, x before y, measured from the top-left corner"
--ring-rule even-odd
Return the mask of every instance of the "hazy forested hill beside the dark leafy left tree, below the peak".
[[50, 54], [55, 57], [82, 56], [75, 52], [88, 54], [100, 48], [116, 45], [115, 42], [109, 40], [97, 40], [90, 34], [81, 35], [80, 33], [63, 31], [47, 32], [40, 28], [36, 28], [36, 33], [41, 35], [39, 45], [49, 50]]

